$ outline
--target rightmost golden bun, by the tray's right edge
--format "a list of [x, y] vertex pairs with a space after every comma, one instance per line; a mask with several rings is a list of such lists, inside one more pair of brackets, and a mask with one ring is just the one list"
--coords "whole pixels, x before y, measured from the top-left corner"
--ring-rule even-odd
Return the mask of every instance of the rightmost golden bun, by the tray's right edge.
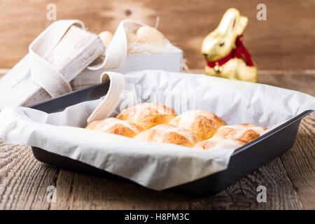
[[260, 137], [260, 134], [265, 130], [267, 130], [267, 127], [260, 127], [250, 124], [227, 125], [220, 127], [214, 137], [235, 139], [239, 141], [245, 141], [247, 143]]

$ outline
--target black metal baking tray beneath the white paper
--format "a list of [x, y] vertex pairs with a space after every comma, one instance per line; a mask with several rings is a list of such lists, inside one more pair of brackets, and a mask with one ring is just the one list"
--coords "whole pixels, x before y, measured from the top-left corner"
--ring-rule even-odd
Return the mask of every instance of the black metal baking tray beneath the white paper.
[[[109, 83], [102, 83], [87, 87], [83, 90], [71, 92], [61, 97], [50, 99], [46, 102], [30, 107], [40, 111], [45, 111], [46, 113], [55, 113], [63, 111], [66, 107], [80, 102], [99, 99], [100, 97], [106, 95], [108, 90]], [[238, 181], [247, 174], [250, 174], [261, 165], [288, 151], [288, 149], [290, 149], [294, 144], [297, 130], [302, 118], [311, 112], [312, 111], [304, 111], [303, 113], [300, 113], [300, 115], [295, 116], [295, 118], [292, 118], [279, 127], [276, 127], [271, 132], [264, 134], [262, 137], [237, 148], [230, 158], [228, 169], [216, 174], [205, 176], [202, 179], [182, 184], [181, 186], [169, 188], [167, 190], [196, 196], [214, 195], [221, 190], [224, 190], [230, 184]], [[36, 160], [40, 162], [85, 174], [102, 176], [119, 181], [133, 182], [123, 177], [105, 172], [102, 169], [92, 167], [83, 162], [73, 160], [62, 155], [57, 155], [55, 153], [50, 153], [45, 151], [43, 148], [31, 147], [31, 150]]]

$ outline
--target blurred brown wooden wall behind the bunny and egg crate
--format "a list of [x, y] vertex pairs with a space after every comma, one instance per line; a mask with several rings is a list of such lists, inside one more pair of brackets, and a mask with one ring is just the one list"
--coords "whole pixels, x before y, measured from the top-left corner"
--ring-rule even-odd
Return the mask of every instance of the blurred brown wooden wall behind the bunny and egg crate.
[[[245, 45], [258, 69], [315, 69], [315, 1], [300, 0], [1, 0], [0, 67], [10, 68], [28, 50], [29, 43], [50, 25], [48, 3], [57, 6], [57, 19], [82, 20], [90, 31], [114, 31], [123, 19], [155, 25], [184, 50], [190, 69], [204, 66], [202, 39], [216, 28], [230, 7], [249, 18]], [[267, 21], [258, 21], [256, 6], [267, 5]]]

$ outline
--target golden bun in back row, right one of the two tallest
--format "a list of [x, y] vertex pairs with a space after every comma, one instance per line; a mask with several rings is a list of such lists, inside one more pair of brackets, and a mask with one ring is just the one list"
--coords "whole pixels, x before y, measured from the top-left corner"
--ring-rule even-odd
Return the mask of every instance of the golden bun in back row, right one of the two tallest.
[[226, 123], [214, 113], [207, 111], [187, 111], [176, 116], [176, 118], [169, 122], [169, 125], [186, 128], [190, 132], [197, 134], [200, 139], [206, 140], [213, 137], [218, 128], [226, 125]]

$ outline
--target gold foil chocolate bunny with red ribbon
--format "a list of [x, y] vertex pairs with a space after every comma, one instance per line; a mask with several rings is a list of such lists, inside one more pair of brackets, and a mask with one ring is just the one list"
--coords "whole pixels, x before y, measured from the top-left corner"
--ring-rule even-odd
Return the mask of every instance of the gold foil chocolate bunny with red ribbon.
[[206, 74], [257, 82], [257, 68], [241, 42], [248, 19], [235, 8], [228, 9], [218, 27], [204, 38], [202, 54]]

